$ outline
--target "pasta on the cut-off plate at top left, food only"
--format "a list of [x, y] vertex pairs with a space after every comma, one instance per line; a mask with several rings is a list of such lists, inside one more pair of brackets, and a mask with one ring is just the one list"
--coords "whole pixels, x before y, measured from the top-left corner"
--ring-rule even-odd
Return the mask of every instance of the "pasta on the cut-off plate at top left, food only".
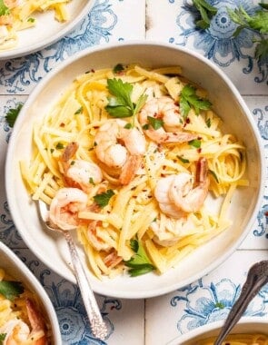
[[66, 5], [70, 0], [0, 0], [0, 53], [14, 48], [17, 33], [36, 25], [35, 15], [46, 11], [55, 12], [55, 20], [69, 19]]

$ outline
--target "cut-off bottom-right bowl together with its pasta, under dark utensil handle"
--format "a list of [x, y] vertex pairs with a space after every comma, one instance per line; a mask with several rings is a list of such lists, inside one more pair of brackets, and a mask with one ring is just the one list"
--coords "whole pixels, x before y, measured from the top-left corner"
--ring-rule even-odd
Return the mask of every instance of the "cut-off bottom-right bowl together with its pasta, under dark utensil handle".
[[[261, 317], [243, 317], [223, 340], [223, 345], [267, 345], [267, 322]], [[213, 345], [222, 327], [223, 320], [208, 323], [190, 330], [167, 345]]]

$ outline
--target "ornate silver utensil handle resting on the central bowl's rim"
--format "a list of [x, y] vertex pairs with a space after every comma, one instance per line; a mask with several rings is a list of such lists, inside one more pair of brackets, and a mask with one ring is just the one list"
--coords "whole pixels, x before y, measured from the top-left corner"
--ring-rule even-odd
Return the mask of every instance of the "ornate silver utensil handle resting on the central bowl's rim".
[[96, 338], [104, 340], [107, 336], [107, 328], [102, 318], [102, 314], [99, 310], [97, 301], [95, 300], [94, 292], [91, 288], [90, 282], [87, 279], [84, 267], [76, 251], [71, 233], [64, 231], [64, 234], [65, 240], [68, 243], [68, 247], [71, 253], [75, 277], [80, 288], [81, 295], [84, 301], [84, 307], [91, 324], [91, 330]]

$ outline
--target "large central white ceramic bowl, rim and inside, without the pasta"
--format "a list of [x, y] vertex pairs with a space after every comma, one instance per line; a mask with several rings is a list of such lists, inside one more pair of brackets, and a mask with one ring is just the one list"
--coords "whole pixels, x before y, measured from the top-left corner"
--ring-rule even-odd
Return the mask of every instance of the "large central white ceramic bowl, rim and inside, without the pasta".
[[[226, 75], [203, 56], [168, 44], [145, 42], [98, 46], [76, 54], [47, 74], [29, 96], [15, 122], [5, 166], [7, 198], [16, 228], [29, 248], [65, 279], [74, 281], [65, 240], [42, 230], [35, 203], [30, 202], [22, 182], [19, 160], [27, 159], [31, 154], [33, 121], [44, 116], [75, 76], [89, 69], [114, 67], [118, 63], [140, 63], [149, 67], [181, 65], [188, 79], [208, 90], [209, 98], [216, 113], [222, 117], [226, 130], [243, 140], [247, 148], [250, 187], [236, 192], [233, 207], [230, 208], [233, 225], [229, 229], [161, 276], [154, 273], [136, 278], [124, 275], [99, 281], [87, 270], [95, 292], [121, 298], [148, 298], [174, 291], [197, 280], [227, 259], [241, 244], [252, 229], [261, 206], [264, 158], [258, 130], [243, 98]], [[85, 265], [84, 252], [81, 248], [79, 251]]]

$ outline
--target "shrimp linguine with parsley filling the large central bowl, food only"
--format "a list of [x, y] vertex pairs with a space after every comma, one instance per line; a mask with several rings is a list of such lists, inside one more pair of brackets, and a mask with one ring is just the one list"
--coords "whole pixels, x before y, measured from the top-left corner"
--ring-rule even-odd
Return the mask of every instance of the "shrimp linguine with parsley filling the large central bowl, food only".
[[245, 147], [180, 66], [89, 70], [59, 98], [20, 170], [96, 277], [162, 274], [230, 226]]

